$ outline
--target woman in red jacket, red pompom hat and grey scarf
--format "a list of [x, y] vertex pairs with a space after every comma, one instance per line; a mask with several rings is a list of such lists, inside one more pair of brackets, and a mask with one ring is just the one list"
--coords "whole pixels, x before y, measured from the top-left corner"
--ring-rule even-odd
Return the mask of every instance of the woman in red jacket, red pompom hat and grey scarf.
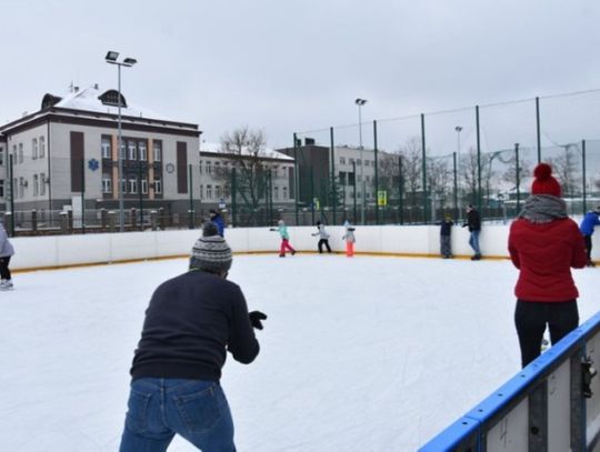
[[519, 280], [514, 288], [514, 324], [524, 368], [540, 355], [546, 325], [552, 344], [579, 324], [579, 292], [571, 268], [586, 265], [586, 245], [577, 223], [567, 215], [552, 168], [533, 171], [531, 197], [510, 227], [509, 252]]

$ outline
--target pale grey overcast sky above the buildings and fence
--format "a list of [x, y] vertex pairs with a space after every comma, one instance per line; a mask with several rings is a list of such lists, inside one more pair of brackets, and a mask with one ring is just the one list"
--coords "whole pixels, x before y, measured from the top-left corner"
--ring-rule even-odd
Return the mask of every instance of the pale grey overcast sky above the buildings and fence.
[[117, 88], [107, 50], [139, 61], [122, 73], [130, 102], [198, 123], [207, 141], [240, 125], [262, 129], [271, 147], [290, 145], [293, 132], [357, 123], [358, 97], [369, 100], [370, 121], [600, 87], [597, 0], [0, 6], [1, 123], [38, 110], [47, 92], [64, 94], [71, 81]]

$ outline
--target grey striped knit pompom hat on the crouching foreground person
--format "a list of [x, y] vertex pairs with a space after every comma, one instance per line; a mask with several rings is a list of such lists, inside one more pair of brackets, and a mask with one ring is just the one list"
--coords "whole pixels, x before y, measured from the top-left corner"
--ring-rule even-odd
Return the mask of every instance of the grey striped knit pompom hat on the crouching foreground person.
[[227, 272], [231, 268], [231, 248], [219, 235], [214, 223], [202, 224], [202, 237], [192, 248], [190, 269], [204, 270], [211, 273]]

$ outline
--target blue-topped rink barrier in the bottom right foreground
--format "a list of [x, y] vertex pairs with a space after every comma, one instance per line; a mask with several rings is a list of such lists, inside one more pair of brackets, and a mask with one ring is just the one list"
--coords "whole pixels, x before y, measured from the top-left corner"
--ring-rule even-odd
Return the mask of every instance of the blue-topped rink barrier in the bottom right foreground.
[[424, 444], [420, 452], [592, 451], [600, 375], [582, 395], [581, 360], [600, 364], [600, 312]]

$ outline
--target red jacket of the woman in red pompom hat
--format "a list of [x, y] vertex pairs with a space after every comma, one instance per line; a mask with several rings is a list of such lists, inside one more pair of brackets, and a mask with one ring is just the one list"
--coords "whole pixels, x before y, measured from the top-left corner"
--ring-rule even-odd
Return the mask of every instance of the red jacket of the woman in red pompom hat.
[[586, 244], [577, 223], [558, 219], [510, 225], [510, 259], [519, 272], [514, 294], [524, 301], [570, 301], [579, 297], [571, 267], [586, 267]]

